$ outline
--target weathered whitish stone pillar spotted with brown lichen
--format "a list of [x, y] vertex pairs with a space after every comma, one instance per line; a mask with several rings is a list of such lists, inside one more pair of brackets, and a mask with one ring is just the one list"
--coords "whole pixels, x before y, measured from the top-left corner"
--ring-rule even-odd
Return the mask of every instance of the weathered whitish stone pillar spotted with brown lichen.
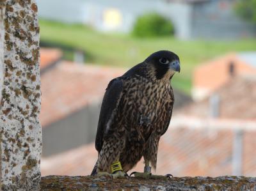
[[0, 0], [0, 86], [1, 188], [38, 190], [42, 131], [35, 0]]

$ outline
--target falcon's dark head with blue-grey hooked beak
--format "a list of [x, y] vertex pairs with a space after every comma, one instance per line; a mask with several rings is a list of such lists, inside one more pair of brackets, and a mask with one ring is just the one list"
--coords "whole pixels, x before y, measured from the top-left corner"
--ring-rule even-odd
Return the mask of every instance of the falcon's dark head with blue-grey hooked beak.
[[168, 50], [154, 52], [145, 59], [152, 66], [157, 79], [171, 79], [175, 72], [180, 72], [180, 59], [177, 54]]

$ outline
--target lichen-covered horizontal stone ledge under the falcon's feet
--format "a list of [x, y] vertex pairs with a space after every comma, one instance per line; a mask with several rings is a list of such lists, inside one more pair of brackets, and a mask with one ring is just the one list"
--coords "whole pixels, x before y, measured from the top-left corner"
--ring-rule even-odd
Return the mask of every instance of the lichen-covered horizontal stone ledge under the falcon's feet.
[[256, 178], [244, 176], [175, 177], [172, 180], [129, 178], [111, 180], [91, 176], [45, 176], [42, 190], [256, 190]]

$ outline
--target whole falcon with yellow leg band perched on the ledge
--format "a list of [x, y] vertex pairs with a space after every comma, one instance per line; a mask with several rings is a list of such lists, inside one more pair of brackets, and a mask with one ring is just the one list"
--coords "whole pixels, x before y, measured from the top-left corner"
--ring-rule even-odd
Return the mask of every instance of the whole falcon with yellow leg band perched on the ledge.
[[153, 178], [159, 139], [172, 117], [170, 80], [175, 72], [180, 72], [179, 56], [160, 50], [109, 82], [95, 141], [98, 160], [91, 175], [127, 176], [143, 157], [144, 172], [134, 176]]

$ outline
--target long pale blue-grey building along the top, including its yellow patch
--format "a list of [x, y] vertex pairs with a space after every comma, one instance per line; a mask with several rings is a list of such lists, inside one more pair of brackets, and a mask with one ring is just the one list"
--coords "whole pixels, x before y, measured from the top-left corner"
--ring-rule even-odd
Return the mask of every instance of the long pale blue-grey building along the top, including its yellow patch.
[[256, 35], [253, 24], [233, 11], [236, 0], [36, 0], [43, 19], [88, 24], [99, 31], [131, 31], [138, 16], [157, 12], [172, 20], [175, 35], [191, 38], [241, 38]]

